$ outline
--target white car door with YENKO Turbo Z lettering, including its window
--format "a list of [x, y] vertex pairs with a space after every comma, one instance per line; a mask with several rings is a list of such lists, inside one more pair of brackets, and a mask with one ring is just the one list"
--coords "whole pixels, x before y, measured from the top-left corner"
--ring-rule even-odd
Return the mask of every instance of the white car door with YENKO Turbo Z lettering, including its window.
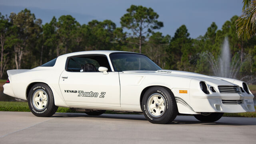
[[[85, 70], [84, 66], [94, 66]], [[98, 67], [108, 68], [108, 74]], [[59, 85], [66, 103], [70, 106], [120, 107], [120, 83], [118, 72], [111, 72], [104, 55], [84, 55], [68, 58], [66, 70], [60, 75]]]

